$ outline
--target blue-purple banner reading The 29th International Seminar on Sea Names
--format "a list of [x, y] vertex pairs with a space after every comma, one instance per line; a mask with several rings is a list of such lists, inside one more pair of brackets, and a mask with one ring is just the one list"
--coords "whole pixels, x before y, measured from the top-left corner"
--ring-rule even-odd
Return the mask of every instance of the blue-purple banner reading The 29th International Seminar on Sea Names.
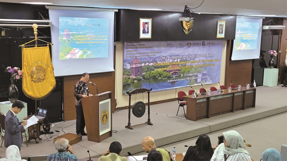
[[127, 41], [124, 44], [123, 94], [220, 81], [222, 40]]

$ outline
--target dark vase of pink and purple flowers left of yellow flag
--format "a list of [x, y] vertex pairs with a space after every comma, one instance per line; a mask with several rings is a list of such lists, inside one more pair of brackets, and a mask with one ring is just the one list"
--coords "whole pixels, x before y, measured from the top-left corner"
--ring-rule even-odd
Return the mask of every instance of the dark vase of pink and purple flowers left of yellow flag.
[[11, 68], [11, 66], [8, 66], [5, 69], [5, 72], [11, 74], [11, 85], [8, 87], [8, 98], [11, 103], [14, 103], [16, 100], [18, 100], [19, 97], [19, 90], [14, 84], [14, 81], [22, 79], [22, 71], [18, 67]]

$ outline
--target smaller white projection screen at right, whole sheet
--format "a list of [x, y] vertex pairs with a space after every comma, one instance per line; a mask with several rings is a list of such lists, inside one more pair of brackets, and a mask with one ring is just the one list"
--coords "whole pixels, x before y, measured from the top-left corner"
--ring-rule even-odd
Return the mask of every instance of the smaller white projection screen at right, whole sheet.
[[236, 18], [235, 40], [231, 60], [258, 59], [262, 18]]

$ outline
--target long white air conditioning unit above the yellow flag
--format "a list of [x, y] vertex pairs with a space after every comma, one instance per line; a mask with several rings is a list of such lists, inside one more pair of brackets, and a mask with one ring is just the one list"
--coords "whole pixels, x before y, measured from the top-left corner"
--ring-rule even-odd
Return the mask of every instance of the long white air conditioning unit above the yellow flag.
[[33, 24], [37, 24], [38, 28], [50, 27], [50, 20], [17, 20], [17, 19], [0, 19], [0, 27], [19, 27], [32, 28]]

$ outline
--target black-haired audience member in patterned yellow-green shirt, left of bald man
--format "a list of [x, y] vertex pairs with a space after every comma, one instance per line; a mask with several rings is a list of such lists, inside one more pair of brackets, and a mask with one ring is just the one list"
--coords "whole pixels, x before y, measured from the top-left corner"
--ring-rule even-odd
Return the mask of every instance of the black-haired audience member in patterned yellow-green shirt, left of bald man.
[[114, 141], [110, 144], [109, 150], [99, 158], [99, 161], [127, 161], [126, 157], [119, 156], [121, 151], [122, 145]]

